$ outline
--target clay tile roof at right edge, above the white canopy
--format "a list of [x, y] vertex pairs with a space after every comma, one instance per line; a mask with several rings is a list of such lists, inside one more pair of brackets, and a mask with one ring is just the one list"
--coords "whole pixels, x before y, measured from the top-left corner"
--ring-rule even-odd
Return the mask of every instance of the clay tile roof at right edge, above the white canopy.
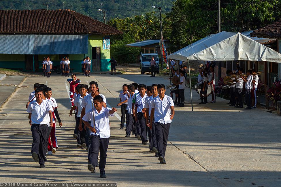
[[263, 28], [254, 30], [250, 36], [264, 37], [264, 38], [281, 38], [281, 20], [267, 25]]

